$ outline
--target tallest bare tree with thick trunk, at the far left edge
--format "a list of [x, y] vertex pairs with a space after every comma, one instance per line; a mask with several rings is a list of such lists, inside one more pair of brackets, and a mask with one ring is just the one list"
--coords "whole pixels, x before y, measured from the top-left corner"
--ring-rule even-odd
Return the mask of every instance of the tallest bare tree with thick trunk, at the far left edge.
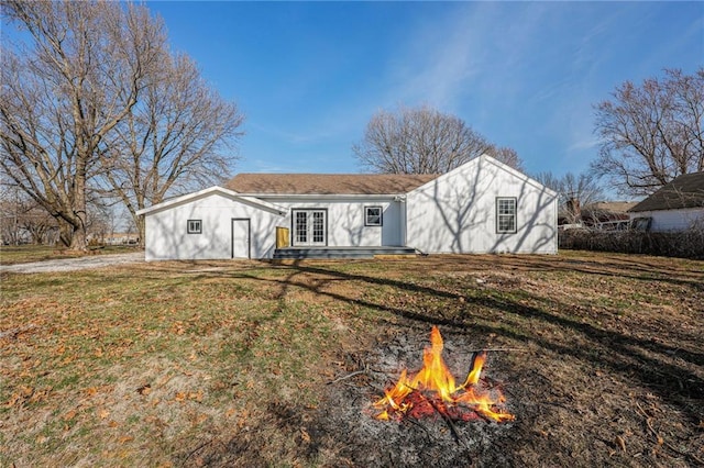
[[117, 2], [2, 7], [32, 43], [2, 53], [0, 165], [58, 220], [62, 241], [85, 249], [88, 181], [161, 65], [163, 25], [146, 8]]

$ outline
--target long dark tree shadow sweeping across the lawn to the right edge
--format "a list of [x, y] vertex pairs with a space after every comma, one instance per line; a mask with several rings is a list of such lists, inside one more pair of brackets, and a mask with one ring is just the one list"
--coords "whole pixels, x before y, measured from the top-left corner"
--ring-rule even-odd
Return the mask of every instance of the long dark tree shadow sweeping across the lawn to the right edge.
[[[650, 337], [650, 339], [636, 338], [618, 332], [600, 328], [564, 315], [551, 313], [550, 310], [569, 310], [570, 305], [563, 304], [554, 299], [550, 299], [549, 302], [547, 302], [544, 298], [535, 294], [524, 293], [522, 297], [526, 298], [527, 302], [542, 303], [544, 308], [527, 305], [514, 299], [499, 299], [488, 294], [471, 298], [408, 281], [341, 272], [320, 266], [307, 266], [301, 263], [287, 266], [286, 268], [290, 272], [280, 279], [261, 278], [246, 272], [235, 272], [233, 276], [254, 281], [276, 282], [280, 287], [279, 297], [282, 299], [287, 296], [292, 288], [302, 288], [316, 294], [329, 297], [358, 307], [391, 313], [411, 322], [451, 327], [455, 333], [462, 335], [474, 335], [476, 333], [485, 335], [496, 334], [520, 343], [534, 343], [558, 355], [571, 356], [593, 368], [607, 368], [628, 379], [637, 379], [644, 388], [660, 395], [663, 401], [670, 402], [681, 409], [693, 424], [697, 424], [701, 421], [702, 414], [697, 413], [701, 413], [702, 405], [697, 403], [697, 400], [701, 402], [702, 395], [704, 395], [704, 380], [686, 368], [668, 363], [667, 359], [671, 359], [672, 355], [676, 354], [680, 358], [695, 366], [702, 366], [704, 365], [704, 354], [702, 353], [686, 352], [675, 346], [657, 342], [653, 339], [654, 336]], [[306, 274], [315, 275], [316, 277], [322, 276], [328, 279], [311, 282], [302, 278], [297, 278]], [[394, 307], [388, 301], [352, 298], [342, 293], [324, 290], [324, 287], [330, 282], [339, 280], [392, 287], [400, 291], [425, 294], [442, 300], [463, 301], [463, 312], [465, 312], [465, 315], [443, 317], [431, 315], [428, 311], [414, 311], [406, 308]], [[484, 312], [482, 312], [483, 315], [477, 317], [471, 312], [472, 308], [475, 308], [475, 310], [488, 309], [490, 311], [499, 312], [499, 315], [503, 315], [503, 317], [487, 321]], [[466, 313], [468, 311], [470, 311], [470, 313]], [[514, 317], [514, 322], [518, 324], [525, 324], [527, 319], [535, 321], [537, 326], [534, 325], [530, 328], [536, 330], [539, 330], [541, 324], [544, 327], [557, 326], [571, 334], [572, 338], [569, 339], [569, 343], [560, 343], [540, 336], [536, 333], [536, 330], [525, 330], [525, 326], [503, 326], [502, 322], [506, 322], [506, 319], [512, 320], [512, 317]], [[576, 346], [575, 344], [578, 342], [586, 343], [586, 346]], [[654, 356], [647, 356], [644, 350], [648, 350], [654, 354]]]

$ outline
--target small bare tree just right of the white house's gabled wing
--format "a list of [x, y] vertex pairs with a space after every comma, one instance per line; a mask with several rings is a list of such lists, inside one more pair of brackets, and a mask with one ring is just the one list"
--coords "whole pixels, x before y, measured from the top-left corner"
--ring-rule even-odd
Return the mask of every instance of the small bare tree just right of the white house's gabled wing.
[[581, 207], [587, 207], [603, 199], [604, 192], [598, 178], [593, 172], [574, 175], [566, 172], [562, 177], [552, 172], [540, 172], [535, 177], [543, 186], [558, 192], [560, 207], [564, 207], [568, 223], [578, 223], [581, 219]]

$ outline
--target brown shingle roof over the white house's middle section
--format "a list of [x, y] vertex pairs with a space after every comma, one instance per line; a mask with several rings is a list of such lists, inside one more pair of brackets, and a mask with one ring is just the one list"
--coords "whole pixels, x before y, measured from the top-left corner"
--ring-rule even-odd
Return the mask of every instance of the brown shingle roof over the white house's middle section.
[[407, 193], [439, 175], [407, 174], [239, 174], [224, 187], [252, 194]]

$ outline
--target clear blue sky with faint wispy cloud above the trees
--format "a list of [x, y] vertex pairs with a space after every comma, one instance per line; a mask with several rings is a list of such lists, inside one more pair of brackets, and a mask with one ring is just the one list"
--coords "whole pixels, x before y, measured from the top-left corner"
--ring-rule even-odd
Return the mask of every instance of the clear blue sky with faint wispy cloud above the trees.
[[380, 109], [428, 104], [529, 174], [596, 157], [593, 104], [704, 65], [704, 2], [170, 2], [172, 46], [246, 114], [235, 172], [358, 172]]

